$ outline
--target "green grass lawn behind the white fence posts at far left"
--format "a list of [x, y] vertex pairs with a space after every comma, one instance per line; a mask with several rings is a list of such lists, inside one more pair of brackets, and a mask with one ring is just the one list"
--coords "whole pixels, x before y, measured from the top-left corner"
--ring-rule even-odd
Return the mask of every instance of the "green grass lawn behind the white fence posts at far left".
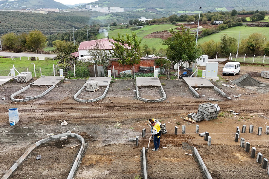
[[[33, 64], [35, 64], [36, 69], [36, 77], [40, 77], [40, 71], [39, 68], [41, 68], [42, 75], [45, 76], [53, 76], [53, 64], [57, 64], [56, 60], [52, 60], [49, 58], [46, 58], [46, 60], [37, 60], [37, 61], [28, 61], [27, 57], [22, 57], [22, 61], [20, 61], [20, 58], [15, 58], [15, 60], [11, 60], [11, 58], [2, 58], [0, 57], [0, 76], [7, 76], [10, 72], [10, 69], [13, 67], [13, 64], [15, 65], [15, 68], [19, 72], [27, 72], [27, 68], [29, 71], [32, 72], [32, 76], [35, 76]], [[29, 58], [30, 59], [30, 58]], [[17, 72], [15, 72], [17, 75]]]

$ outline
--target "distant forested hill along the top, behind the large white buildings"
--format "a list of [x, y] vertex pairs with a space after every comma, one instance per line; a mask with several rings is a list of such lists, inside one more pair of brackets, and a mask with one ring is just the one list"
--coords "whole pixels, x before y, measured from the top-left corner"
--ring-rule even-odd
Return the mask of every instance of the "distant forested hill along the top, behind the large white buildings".
[[100, 7], [124, 7], [124, 8], [162, 8], [171, 12], [182, 10], [214, 10], [215, 8], [226, 7], [228, 10], [268, 10], [269, 1], [264, 0], [99, 0], [86, 5], [98, 5]]

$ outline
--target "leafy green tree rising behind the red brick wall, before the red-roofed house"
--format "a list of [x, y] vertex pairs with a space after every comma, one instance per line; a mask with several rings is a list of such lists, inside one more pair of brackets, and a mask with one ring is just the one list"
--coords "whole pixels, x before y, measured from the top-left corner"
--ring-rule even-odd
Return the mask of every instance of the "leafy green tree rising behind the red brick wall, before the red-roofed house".
[[118, 63], [123, 65], [136, 65], [139, 64], [142, 53], [140, 50], [141, 40], [138, 40], [136, 33], [132, 32], [132, 35], [126, 34], [120, 37], [118, 34], [117, 38], [114, 38], [112, 57], [119, 58]]

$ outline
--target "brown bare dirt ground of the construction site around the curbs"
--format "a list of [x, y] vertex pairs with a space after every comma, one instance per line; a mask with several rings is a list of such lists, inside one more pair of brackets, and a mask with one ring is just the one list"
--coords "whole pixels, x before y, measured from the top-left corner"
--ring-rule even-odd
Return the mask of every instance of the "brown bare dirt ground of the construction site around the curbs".
[[[231, 85], [230, 80], [239, 78], [247, 72], [269, 69], [243, 65], [241, 69], [240, 75], [223, 76], [219, 81], [212, 81], [229, 96], [242, 94], [242, 97], [232, 97], [232, 100], [218, 95], [221, 101], [208, 101], [207, 97], [195, 97], [183, 80], [161, 80], [161, 83], [165, 84], [163, 89], [167, 99], [160, 103], [146, 103], [137, 100], [135, 80], [129, 79], [115, 80], [115, 83], [110, 84], [106, 97], [100, 101], [79, 103], [74, 101], [74, 94], [85, 83], [85, 79], [68, 79], [58, 84], [44, 97], [22, 103], [12, 102], [10, 95], [27, 84], [8, 82], [0, 87], [0, 99], [6, 98], [0, 101], [0, 177], [31, 144], [46, 138], [47, 134], [67, 130], [81, 134], [86, 142], [84, 156], [74, 178], [142, 177], [141, 149], [147, 147], [150, 131], [145, 123], [149, 118], [157, 118], [161, 123], [166, 123], [168, 133], [161, 136], [161, 147], [167, 148], [153, 152], [151, 149], [154, 145], [153, 142], [150, 143], [146, 152], [148, 178], [204, 178], [195, 158], [185, 155], [191, 153], [193, 147], [200, 152], [213, 178], [233, 179], [239, 175], [244, 178], [268, 178], [266, 170], [261, 168], [261, 164], [256, 163], [258, 152], [265, 158], [269, 157], [269, 139], [265, 134], [266, 126], [269, 124], [268, 92], [244, 87], [231, 88], [222, 84]], [[220, 65], [219, 73], [221, 70]], [[253, 78], [269, 83], [269, 79]], [[188, 113], [197, 112], [198, 105], [205, 102], [219, 105], [221, 111], [217, 119], [195, 124], [183, 120]], [[12, 107], [19, 109], [19, 123], [15, 126], [8, 123], [8, 109]], [[240, 114], [233, 115], [230, 110]], [[67, 121], [68, 125], [61, 126], [61, 119]], [[212, 146], [207, 146], [204, 138], [195, 133], [196, 124], [200, 126], [199, 132], [210, 133]], [[236, 126], [241, 129], [243, 124], [247, 125], [247, 131], [250, 124], [254, 125], [253, 134], [248, 132], [240, 134], [240, 137], [250, 142], [250, 147], [256, 147], [254, 159], [239, 146], [240, 143], [234, 141]], [[186, 126], [186, 134], [174, 135], [175, 126], [178, 126], [180, 133], [182, 125]], [[257, 135], [259, 126], [263, 127], [260, 136]], [[143, 128], [146, 128], [145, 138], [141, 138]], [[139, 136], [138, 146], [128, 140], [135, 136]], [[65, 175], [65, 172], [70, 171], [76, 153], [66, 153], [68, 157], [64, 160], [57, 154], [58, 160], [65, 162], [63, 166], [55, 162], [55, 151], [59, 154], [62, 151], [67, 152], [54, 146], [42, 145], [33, 150], [30, 156], [35, 158], [41, 153], [44, 158], [40, 162], [45, 161], [43, 159], [46, 156], [50, 155], [52, 158], [49, 158], [46, 164], [39, 164], [34, 158], [27, 158], [15, 173], [21, 176], [27, 173], [23, 175], [26, 178], [35, 178], [34, 175], [38, 172], [40, 178], [59, 178], [59, 174]], [[35, 164], [33, 168], [24, 167], [31, 161]], [[46, 169], [51, 174], [45, 172]]]

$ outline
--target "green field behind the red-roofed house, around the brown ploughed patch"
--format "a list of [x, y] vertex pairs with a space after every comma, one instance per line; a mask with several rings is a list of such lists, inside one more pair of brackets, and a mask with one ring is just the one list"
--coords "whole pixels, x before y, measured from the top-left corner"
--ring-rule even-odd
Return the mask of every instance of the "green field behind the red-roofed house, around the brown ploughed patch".
[[[135, 26], [134, 26], [135, 27]], [[116, 29], [108, 31], [109, 38], [117, 37], [118, 33], [120, 35], [126, 35], [131, 34], [132, 32], [135, 32], [138, 36], [138, 38], [142, 39], [142, 44], [148, 44], [149, 47], [155, 47], [157, 50], [160, 48], [166, 48], [165, 45], [162, 44], [163, 40], [161, 38], [143, 38], [144, 36], [153, 33], [153, 32], [161, 32], [164, 30], [170, 30], [171, 28], [176, 28], [178, 26], [172, 25], [172, 24], [157, 24], [157, 25], [147, 25], [139, 30], [130, 30], [130, 28], [126, 29]], [[98, 34], [97, 38], [106, 38], [103, 34]]]

